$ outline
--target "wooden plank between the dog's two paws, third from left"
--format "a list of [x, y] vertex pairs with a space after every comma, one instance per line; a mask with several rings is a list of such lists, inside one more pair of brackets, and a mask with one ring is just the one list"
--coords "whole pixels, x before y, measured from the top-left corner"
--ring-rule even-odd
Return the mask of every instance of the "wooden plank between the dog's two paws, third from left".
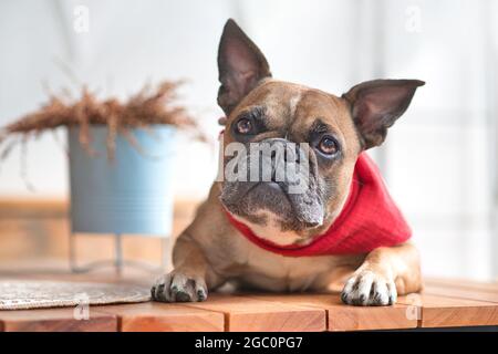
[[211, 293], [205, 302], [186, 303], [186, 305], [224, 313], [225, 329], [229, 332], [320, 332], [326, 330], [325, 310], [313, 306], [216, 293]]

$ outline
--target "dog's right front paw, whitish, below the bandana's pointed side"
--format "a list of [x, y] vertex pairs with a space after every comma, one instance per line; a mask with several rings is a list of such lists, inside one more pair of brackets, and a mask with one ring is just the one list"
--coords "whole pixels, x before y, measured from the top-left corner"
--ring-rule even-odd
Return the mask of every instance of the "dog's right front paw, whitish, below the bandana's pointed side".
[[344, 303], [360, 306], [392, 305], [396, 298], [394, 281], [370, 270], [351, 277], [341, 294]]

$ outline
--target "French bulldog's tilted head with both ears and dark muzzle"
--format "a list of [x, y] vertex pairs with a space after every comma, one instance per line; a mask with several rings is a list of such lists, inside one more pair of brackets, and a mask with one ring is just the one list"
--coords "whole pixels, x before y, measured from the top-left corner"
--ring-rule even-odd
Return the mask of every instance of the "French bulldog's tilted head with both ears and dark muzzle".
[[[224, 166], [248, 167], [246, 178], [221, 183], [220, 200], [236, 219], [262, 230], [258, 235], [284, 235], [272, 239], [281, 244], [307, 243], [333, 222], [347, 198], [359, 154], [382, 144], [424, 84], [377, 80], [339, 97], [272, 80], [267, 60], [232, 20], [221, 35], [218, 69], [218, 103], [227, 115]], [[234, 146], [238, 153], [227, 154]], [[278, 178], [289, 163], [294, 178]], [[292, 190], [299, 183], [301, 188]]]

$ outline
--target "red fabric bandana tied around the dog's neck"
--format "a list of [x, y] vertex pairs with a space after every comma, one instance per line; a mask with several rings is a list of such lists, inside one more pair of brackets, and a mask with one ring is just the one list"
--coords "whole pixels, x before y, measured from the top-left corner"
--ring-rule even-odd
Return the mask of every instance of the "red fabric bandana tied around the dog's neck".
[[365, 153], [354, 167], [350, 196], [325, 233], [307, 246], [280, 246], [255, 235], [227, 212], [237, 230], [259, 247], [288, 257], [366, 253], [405, 242], [412, 236], [385, 187], [377, 166]]

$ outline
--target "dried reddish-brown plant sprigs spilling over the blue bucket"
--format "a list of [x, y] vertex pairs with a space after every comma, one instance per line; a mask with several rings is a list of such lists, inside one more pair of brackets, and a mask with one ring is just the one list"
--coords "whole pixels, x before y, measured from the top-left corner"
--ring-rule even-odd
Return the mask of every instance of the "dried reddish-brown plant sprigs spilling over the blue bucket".
[[141, 150], [131, 132], [133, 128], [149, 131], [152, 125], [166, 124], [189, 129], [198, 139], [206, 140], [185, 107], [175, 105], [179, 84], [180, 82], [165, 81], [155, 88], [145, 85], [124, 103], [116, 98], [97, 100], [86, 87], [83, 87], [81, 98], [72, 103], [51, 95], [49, 103], [39, 111], [27, 114], [0, 129], [0, 147], [3, 145], [3, 149], [0, 149], [0, 160], [7, 158], [18, 143], [24, 149], [30, 138], [60, 126], [79, 126], [80, 143], [89, 154], [93, 154], [89, 126], [106, 125], [110, 160], [114, 158], [117, 134], [122, 134], [129, 144]]

